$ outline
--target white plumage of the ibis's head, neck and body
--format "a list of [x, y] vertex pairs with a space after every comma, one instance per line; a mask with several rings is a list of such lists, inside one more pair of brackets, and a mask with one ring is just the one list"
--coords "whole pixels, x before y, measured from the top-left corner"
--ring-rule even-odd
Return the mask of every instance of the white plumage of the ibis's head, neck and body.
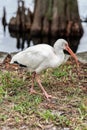
[[49, 67], [57, 67], [64, 61], [64, 45], [67, 43], [64, 39], [59, 39], [51, 47], [47, 44], [31, 46], [26, 50], [13, 56], [10, 63], [17, 61], [19, 64], [27, 66], [28, 70], [36, 73]]

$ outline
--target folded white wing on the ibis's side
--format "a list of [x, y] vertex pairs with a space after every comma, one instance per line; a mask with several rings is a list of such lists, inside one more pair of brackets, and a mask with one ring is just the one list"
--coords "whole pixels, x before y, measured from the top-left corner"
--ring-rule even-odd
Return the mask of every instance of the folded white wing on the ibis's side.
[[49, 45], [36, 45], [29, 47], [26, 50], [14, 56], [15, 61], [19, 64], [25, 65], [29, 70], [35, 71], [43, 70], [49, 67], [52, 58], [53, 48]]

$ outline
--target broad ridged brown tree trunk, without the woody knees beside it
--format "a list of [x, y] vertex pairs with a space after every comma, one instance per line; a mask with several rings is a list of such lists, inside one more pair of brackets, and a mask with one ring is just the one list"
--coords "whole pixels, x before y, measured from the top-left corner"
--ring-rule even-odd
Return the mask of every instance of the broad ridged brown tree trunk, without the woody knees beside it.
[[36, 0], [31, 35], [81, 36], [77, 0]]

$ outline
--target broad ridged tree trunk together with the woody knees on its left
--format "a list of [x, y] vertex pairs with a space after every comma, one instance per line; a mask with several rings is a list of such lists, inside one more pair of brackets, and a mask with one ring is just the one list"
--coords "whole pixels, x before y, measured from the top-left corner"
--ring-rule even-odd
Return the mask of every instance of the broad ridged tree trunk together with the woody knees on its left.
[[77, 0], [35, 0], [33, 15], [22, 0], [16, 17], [10, 20], [9, 30], [27, 31], [31, 36], [82, 36]]

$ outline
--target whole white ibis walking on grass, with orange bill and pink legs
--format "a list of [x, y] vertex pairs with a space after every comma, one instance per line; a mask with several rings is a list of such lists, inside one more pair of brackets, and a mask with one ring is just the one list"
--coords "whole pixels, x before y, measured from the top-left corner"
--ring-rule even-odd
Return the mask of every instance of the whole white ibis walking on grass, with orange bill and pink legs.
[[36, 79], [39, 87], [43, 91], [43, 94], [49, 100], [52, 96], [49, 95], [42, 86], [38, 74], [44, 69], [60, 66], [65, 57], [63, 50], [67, 50], [78, 64], [76, 55], [69, 48], [68, 42], [64, 39], [57, 40], [53, 47], [47, 44], [31, 46], [14, 55], [10, 63], [17, 63], [20, 66], [27, 67], [28, 71], [32, 72], [32, 87], [30, 92], [36, 92], [34, 90], [34, 80]]

